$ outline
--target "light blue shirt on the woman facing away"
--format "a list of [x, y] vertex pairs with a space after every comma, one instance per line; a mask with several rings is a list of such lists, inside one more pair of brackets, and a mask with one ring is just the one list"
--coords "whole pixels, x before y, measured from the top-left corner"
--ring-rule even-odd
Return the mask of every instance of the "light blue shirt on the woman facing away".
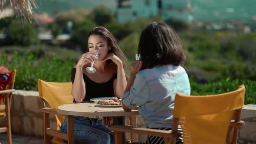
[[190, 83], [181, 66], [164, 65], [141, 70], [129, 92], [122, 96], [128, 108], [138, 106], [150, 128], [171, 128], [175, 94], [190, 95]]

